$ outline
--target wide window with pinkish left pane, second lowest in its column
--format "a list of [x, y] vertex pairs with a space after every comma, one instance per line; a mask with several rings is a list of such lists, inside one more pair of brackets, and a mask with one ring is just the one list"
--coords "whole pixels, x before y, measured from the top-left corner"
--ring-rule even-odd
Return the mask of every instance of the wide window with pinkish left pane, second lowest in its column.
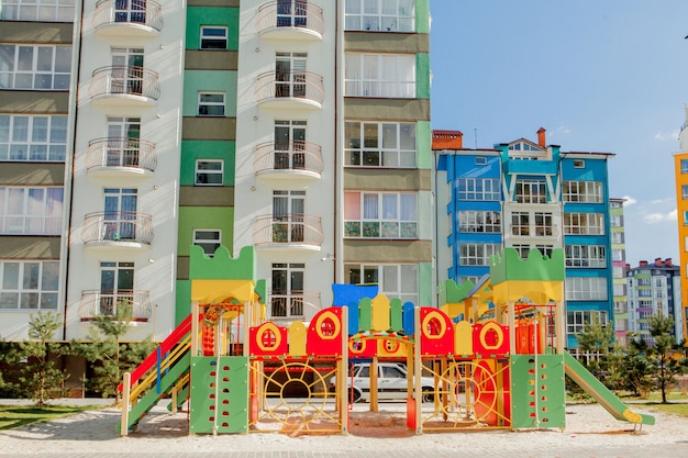
[[418, 196], [411, 192], [346, 192], [344, 236], [418, 238]]

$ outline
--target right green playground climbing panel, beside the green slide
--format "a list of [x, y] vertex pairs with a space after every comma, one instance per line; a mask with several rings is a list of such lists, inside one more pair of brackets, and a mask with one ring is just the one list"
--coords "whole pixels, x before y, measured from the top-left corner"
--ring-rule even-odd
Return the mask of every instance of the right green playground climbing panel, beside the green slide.
[[563, 355], [511, 356], [511, 427], [564, 428]]

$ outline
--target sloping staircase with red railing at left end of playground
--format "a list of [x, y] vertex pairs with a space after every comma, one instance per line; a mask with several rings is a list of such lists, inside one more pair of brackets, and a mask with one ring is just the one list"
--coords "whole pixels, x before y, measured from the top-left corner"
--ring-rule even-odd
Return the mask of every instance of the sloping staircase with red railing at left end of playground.
[[[188, 375], [191, 367], [191, 315], [187, 316], [131, 375], [127, 428], [132, 431], [157, 402], [177, 389], [177, 402], [188, 394]], [[123, 384], [118, 387], [123, 390]], [[185, 394], [186, 393], [186, 394]], [[131, 405], [131, 407], [130, 407]], [[170, 406], [171, 409], [171, 406]], [[118, 425], [121, 428], [121, 425]]]

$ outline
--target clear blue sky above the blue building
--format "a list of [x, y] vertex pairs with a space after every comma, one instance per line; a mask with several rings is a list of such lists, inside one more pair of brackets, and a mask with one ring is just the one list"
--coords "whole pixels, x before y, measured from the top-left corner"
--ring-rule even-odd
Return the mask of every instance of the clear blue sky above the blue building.
[[678, 264], [674, 153], [688, 105], [688, 0], [430, 0], [432, 129], [614, 154], [626, 262]]

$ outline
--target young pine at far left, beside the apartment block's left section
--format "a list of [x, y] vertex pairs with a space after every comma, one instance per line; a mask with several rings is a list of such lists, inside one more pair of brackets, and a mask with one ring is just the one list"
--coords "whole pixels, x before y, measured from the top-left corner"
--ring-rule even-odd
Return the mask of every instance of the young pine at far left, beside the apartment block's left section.
[[62, 394], [65, 380], [69, 377], [59, 368], [62, 356], [69, 353], [68, 346], [53, 342], [55, 332], [63, 325], [58, 313], [38, 312], [29, 320], [29, 340], [20, 343], [8, 359], [19, 367], [14, 391], [44, 405], [55, 393]]

